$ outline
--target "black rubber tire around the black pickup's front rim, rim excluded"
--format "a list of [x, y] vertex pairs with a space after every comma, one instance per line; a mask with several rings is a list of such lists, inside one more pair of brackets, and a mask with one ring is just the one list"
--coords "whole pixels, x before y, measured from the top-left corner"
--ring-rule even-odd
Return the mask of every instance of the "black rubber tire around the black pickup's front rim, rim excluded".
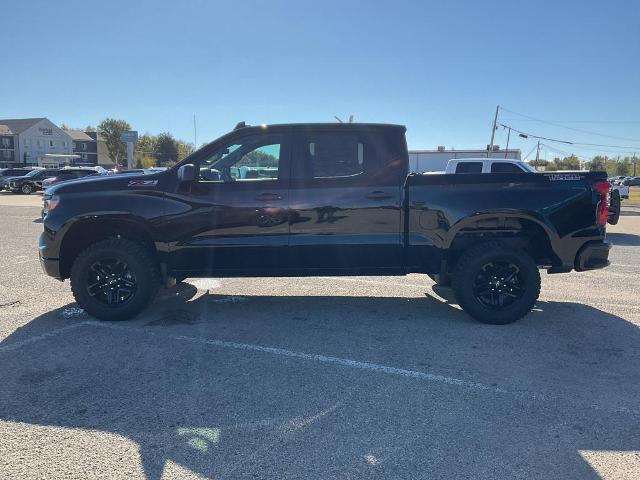
[[[136, 290], [127, 303], [108, 306], [89, 293], [91, 266], [105, 258], [126, 262], [136, 279]], [[71, 291], [89, 315], [100, 320], [128, 320], [140, 313], [155, 297], [160, 286], [160, 269], [152, 253], [144, 246], [123, 238], [109, 238], [83, 250], [71, 268]]]

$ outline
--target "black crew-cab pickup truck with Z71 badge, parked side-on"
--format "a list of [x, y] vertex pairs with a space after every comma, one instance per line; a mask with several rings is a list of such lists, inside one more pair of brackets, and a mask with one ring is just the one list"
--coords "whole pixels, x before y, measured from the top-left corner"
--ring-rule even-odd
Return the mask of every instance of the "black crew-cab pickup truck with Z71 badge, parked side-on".
[[540, 268], [608, 265], [604, 172], [408, 175], [404, 134], [239, 124], [165, 172], [54, 186], [42, 266], [101, 319], [187, 277], [417, 272], [505, 324], [533, 307]]

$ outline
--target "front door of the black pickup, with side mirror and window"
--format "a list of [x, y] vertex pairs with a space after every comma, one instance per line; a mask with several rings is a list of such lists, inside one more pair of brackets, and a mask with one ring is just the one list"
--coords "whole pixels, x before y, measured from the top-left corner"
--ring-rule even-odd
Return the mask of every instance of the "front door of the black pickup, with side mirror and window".
[[167, 196], [176, 215], [175, 271], [268, 273], [283, 268], [289, 235], [288, 133], [240, 133], [194, 160], [196, 182]]

